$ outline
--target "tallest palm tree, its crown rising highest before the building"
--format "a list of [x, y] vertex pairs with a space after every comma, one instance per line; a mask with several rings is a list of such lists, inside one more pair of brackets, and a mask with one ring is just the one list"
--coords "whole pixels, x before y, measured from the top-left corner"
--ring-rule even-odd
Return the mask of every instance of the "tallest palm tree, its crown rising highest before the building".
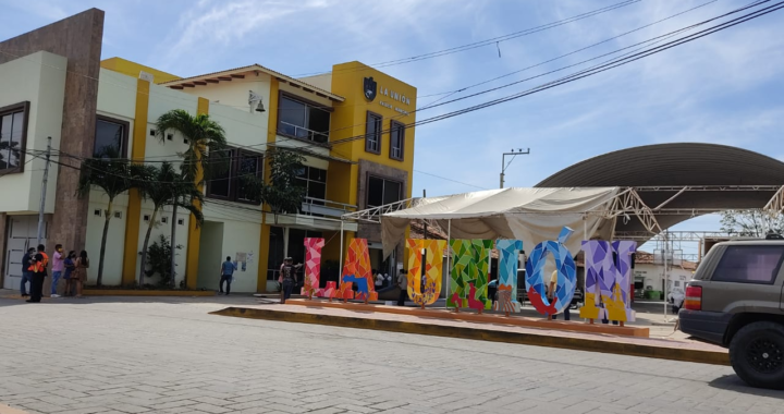
[[[166, 144], [166, 136], [169, 131], [179, 132], [188, 142], [188, 149], [180, 154], [183, 157], [183, 162], [180, 166], [183, 179], [189, 180], [201, 187], [206, 178], [209, 178], [216, 170], [226, 168], [225, 161], [229, 160], [229, 157], [225, 151], [225, 131], [209, 115], [198, 114], [194, 117], [182, 109], [171, 110], [160, 115], [158, 122], [156, 122], [156, 136], [161, 143]], [[208, 157], [212, 157], [212, 160], [208, 161]], [[199, 171], [203, 172], [200, 176]], [[174, 209], [172, 211], [172, 283], [175, 277], [174, 252], [176, 246], [177, 205], [181, 205], [181, 203], [173, 204]]]

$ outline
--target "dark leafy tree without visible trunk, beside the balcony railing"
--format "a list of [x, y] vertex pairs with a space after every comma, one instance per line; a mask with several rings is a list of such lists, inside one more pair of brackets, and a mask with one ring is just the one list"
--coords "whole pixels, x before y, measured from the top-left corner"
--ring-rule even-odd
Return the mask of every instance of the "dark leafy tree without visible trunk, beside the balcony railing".
[[296, 178], [305, 168], [305, 157], [299, 154], [275, 148], [267, 151], [266, 159], [270, 166], [270, 181], [244, 176], [243, 184], [248, 194], [256, 194], [256, 202], [269, 206], [278, 223], [278, 215], [285, 212], [299, 212], [305, 199], [305, 187]]

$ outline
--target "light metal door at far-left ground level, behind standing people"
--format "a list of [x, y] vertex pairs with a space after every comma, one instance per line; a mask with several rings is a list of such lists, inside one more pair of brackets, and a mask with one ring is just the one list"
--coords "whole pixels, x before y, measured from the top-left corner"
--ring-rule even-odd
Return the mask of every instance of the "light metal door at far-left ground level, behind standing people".
[[[19, 290], [22, 282], [22, 256], [27, 248], [37, 246], [38, 216], [8, 216], [8, 228], [3, 288]], [[44, 244], [46, 236], [45, 227], [41, 241]]]

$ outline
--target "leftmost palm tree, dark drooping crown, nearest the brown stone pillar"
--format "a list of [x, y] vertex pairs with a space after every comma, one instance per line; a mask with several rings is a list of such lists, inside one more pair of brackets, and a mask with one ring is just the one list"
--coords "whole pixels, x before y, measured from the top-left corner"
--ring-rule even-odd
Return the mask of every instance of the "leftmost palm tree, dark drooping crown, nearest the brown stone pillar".
[[120, 158], [120, 151], [113, 147], [103, 148], [99, 158], [88, 158], [82, 161], [76, 188], [77, 195], [79, 197], [89, 197], [90, 190], [98, 187], [109, 197], [109, 205], [103, 211], [103, 235], [98, 258], [98, 280], [96, 283], [99, 287], [103, 281], [103, 256], [106, 255], [109, 220], [113, 216], [114, 198], [138, 184], [137, 180], [143, 175], [142, 169], [142, 166], [133, 165], [127, 159]]

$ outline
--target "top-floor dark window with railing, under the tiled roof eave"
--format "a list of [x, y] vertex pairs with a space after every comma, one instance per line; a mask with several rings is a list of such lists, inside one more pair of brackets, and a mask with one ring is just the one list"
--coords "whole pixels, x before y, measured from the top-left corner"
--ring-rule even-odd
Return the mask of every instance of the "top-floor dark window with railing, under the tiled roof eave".
[[329, 141], [331, 108], [280, 95], [278, 134], [324, 144]]

